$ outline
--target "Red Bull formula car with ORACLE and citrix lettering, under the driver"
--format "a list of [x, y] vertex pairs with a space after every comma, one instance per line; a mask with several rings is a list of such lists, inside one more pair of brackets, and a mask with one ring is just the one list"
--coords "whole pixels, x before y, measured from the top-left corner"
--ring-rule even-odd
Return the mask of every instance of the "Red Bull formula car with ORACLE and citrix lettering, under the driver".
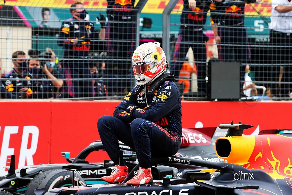
[[[34, 190], [36, 195], [282, 195], [292, 194], [292, 133], [243, 136], [250, 125], [221, 124], [228, 129], [215, 141], [216, 154], [226, 162], [169, 156], [152, 158], [151, 165], [178, 169], [175, 177], [153, 184], [127, 185], [139, 164], [121, 184], [94, 184]], [[283, 150], [284, 149], [284, 150]], [[232, 164], [233, 163], [233, 164]]]

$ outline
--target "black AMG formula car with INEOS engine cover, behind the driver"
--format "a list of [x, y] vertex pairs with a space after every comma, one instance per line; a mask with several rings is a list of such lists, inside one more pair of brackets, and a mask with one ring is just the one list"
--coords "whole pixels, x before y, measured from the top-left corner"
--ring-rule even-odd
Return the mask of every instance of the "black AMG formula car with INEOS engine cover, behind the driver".
[[[182, 144], [176, 156], [214, 162], [223, 161], [217, 157], [214, 143], [218, 135], [225, 133], [226, 130], [218, 127], [183, 128]], [[126, 165], [129, 170], [132, 170], [138, 163], [134, 150], [123, 143], [120, 143], [120, 149], [124, 151]], [[71, 186], [73, 177], [67, 171], [71, 169], [78, 169], [76, 173], [79, 185], [105, 183], [101, 177], [111, 175], [111, 167], [114, 164], [109, 160], [105, 160], [103, 163], [88, 163], [86, 161], [86, 157], [91, 152], [99, 150], [103, 150], [101, 141], [94, 141], [83, 149], [76, 158], [70, 158], [69, 152], [62, 152], [62, 156], [66, 158], [68, 163], [24, 166], [17, 170], [14, 168], [14, 157], [12, 157], [8, 175], [0, 177], [0, 188], [12, 194], [23, 195], [32, 194], [36, 188], [46, 187], [49, 190]], [[176, 171], [176, 168], [160, 165], [152, 168], [152, 175], [154, 179], [162, 179], [172, 177]]]

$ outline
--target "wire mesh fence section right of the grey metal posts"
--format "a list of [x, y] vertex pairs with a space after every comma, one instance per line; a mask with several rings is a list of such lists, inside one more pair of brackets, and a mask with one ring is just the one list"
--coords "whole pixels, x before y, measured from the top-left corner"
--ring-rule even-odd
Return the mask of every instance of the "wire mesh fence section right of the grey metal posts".
[[[246, 2], [196, 1], [195, 8], [189, 1], [176, 4], [170, 19], [170, 32], [177, 35], [169, 40], [171, 66], [184, 99], [208, 99], [209, 61], [241, 63], [243, 99], [262, 99], [263, 87], [263, 99], [291, 98], [291, 2]], [[277, 6], [286, 6], [286, 13], [276, 11]]]

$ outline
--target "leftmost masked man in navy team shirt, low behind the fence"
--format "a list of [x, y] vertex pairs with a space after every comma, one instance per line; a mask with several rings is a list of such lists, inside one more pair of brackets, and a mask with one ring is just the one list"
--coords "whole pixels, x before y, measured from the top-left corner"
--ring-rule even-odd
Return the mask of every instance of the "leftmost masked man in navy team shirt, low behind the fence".
[[12, 63], [13, 69], [1, 79], [1, 98], [26, 99], [35, 97], [32, 92], [32, 82], [30, 80], [32, 74], [27, 71], [27, 57], [25, 52], [13, 52]]

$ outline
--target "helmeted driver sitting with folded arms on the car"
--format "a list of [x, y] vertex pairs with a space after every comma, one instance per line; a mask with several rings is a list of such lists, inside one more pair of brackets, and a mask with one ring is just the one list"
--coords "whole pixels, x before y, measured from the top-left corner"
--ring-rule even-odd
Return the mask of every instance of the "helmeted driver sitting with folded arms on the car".
[[102, 116], [97, 123], [105, 150], [115, 164], [109, 183], [123, 181], [128, 168], [118, 140], [135, 149], [140, 168], [126, 184], [153, 182], [151, 157], [174, 155], [182, 134], [181, 98], [174, 75], [158, 42], [137, 47], [132, 57], [137, 85], [115, 108], [114, 116]]

